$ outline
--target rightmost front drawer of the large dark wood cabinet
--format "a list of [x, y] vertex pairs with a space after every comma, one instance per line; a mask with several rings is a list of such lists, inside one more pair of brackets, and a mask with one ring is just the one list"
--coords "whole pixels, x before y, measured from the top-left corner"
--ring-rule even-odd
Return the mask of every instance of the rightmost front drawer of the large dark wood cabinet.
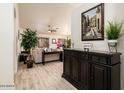
[[107, 57], [92, 56], [92, 62], [107, 64]]

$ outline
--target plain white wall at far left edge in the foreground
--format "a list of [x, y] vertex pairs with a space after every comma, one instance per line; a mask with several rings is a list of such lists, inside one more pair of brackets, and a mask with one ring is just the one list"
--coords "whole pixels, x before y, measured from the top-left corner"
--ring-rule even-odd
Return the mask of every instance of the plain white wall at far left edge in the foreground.
[[[14, 7], [0, 4], [0, 86], [14, 85]], [[13, 89], [14, 87], [0, 87]]]

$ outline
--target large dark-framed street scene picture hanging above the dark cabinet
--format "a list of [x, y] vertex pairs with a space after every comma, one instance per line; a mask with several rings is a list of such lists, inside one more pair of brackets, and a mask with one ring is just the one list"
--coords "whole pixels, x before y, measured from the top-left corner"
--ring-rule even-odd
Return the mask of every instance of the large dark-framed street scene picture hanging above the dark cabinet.
[[104, 40], [104, 3], [81, 13], [81, 39]]

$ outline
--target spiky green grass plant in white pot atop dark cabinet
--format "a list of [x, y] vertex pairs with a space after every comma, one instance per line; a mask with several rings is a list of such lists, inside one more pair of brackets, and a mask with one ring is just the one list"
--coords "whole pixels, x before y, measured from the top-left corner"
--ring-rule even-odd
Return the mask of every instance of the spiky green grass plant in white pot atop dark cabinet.
[[117, 22], [108, 22], [108, 26], [106, 29], [107, 32], [107, 39], [108, 39], [108, 45], [109, 50], [110, 48], [115, 48], [117, 52], [117, 40], [121, 36], [120, 32], [123, 26], [123, 23], [117, 23]]

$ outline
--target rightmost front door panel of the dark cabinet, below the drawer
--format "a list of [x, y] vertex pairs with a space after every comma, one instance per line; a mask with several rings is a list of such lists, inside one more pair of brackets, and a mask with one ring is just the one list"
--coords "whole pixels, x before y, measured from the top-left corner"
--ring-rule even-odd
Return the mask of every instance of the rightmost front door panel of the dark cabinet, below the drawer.
[[104, 90], [107, 89], [107, 68], [91, 64], [91, 89]]

